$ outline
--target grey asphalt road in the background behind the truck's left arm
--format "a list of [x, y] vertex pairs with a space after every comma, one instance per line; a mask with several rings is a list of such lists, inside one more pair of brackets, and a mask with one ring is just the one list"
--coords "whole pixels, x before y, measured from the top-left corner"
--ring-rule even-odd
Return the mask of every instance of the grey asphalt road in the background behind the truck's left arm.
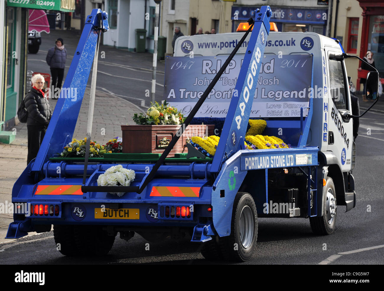
[[[63, 38], [68, 54], [64, 71], [64, 77], [66, 76], [80, 39], [78, 31], [53, 30], [50, 34], [41, 33], [42, 43], [38, 53], [28, 53], [28, 70], [50, 74], [45, 58], [48, 50], [55, 46], [58, 37]], [[143, 110], [147, 109], [151, 101], [152, 56], [151, 53], [118, 50], [100, 43], [96, 88], [131, 101]], [[164, 61], [157, 62], [155, 100], [158, 102], [163, 100], [164, 66]], [[92, 71], [87, 86], [91, 86], [91, 76]]]

